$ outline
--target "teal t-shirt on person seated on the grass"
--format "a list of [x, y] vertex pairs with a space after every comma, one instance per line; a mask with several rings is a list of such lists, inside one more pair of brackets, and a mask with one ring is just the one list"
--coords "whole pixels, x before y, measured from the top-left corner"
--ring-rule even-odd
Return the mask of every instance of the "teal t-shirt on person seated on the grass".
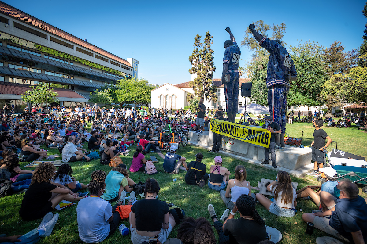
[[126, 177], [118, 171], [111, 170], [106, 177], [106, 192], [101, 196], [105, 200], [111, 200], [119, 195], [120, 185], [127, 186]]

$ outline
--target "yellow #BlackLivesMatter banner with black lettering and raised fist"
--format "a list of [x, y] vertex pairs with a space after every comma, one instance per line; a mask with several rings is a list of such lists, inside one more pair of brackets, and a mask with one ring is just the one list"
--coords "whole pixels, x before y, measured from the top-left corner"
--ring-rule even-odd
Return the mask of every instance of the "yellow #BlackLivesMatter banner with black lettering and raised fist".
[[210, 130], [220, 135], [269, 148], [271, 132], [267, 129], [210, 119]]

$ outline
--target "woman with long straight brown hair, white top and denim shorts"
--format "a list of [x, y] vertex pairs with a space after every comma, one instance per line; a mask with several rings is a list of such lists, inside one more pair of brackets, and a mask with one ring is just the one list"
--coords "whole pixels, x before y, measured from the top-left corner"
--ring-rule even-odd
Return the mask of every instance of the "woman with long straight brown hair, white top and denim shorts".
[[293, 217], [295, 215], [297, 193], [292, 187], [292, 180], [287, 172], [279, 171], [275, 181], [270, 183], [266, 189], [274, 196], [274, 202], [266, 196], [257, 193], [256, 199], [262, 206], [270, 213], [279, 217]]

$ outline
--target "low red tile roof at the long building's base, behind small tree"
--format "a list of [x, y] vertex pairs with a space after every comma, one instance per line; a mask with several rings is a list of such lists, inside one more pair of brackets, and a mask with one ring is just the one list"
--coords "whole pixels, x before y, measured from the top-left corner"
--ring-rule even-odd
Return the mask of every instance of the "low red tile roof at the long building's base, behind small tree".
[[[0, 94], [22, 95], [28, 90], [30, 90], [29, 85], [0, 82]], [[59, 94], [57, 97], [85, 98], [71, 89], [54, 88], [54, 92]]]

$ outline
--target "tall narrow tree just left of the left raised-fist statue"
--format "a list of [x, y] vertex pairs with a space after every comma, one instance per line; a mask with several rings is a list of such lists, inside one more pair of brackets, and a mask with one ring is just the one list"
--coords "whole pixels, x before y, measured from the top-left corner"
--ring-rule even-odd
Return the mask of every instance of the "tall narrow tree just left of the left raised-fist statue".
[[[197, 74], [197, 77], [190, 81], [190, 86], [194, 90], [194, 94], [207, 101], [217, 101], [217, 87], [213, 85], [214, 51], [211, 49], [213, 44], [213, 36], [207, 31], [204, 38], [204, 44], [201, 43], [199, 34], [194, 38], [195, 49], [189, 57], [192, 68], [189, 69], [190, 74]], [[203, 49], [199, 49], [203, 46]]]

